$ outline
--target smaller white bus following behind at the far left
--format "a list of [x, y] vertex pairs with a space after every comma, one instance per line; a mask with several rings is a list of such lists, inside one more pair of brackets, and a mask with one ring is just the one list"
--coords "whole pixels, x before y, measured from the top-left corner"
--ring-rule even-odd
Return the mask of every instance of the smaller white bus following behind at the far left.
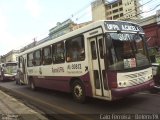
[[0, 64], [0, 80], [15, 80], [17, 74], [17, 62], [6, 62]]

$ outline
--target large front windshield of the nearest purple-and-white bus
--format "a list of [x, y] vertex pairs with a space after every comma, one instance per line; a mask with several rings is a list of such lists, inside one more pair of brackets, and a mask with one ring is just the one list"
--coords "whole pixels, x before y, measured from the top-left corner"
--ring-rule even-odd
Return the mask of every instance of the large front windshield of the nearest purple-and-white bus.
[[126, 70], [150, 65], [144, 35], [138, 33], [107, 33], [110, 70]]

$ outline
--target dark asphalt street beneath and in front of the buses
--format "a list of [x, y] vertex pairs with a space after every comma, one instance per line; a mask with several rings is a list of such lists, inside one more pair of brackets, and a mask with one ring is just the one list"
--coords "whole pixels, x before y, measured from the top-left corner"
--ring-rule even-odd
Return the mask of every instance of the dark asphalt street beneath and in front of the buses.
[[107, 119], [105, 114], [158, 115], [160, 111], [160, 93], [150, 94], [147, 91], [113, 102], [89, 98], [87, 103], [80, 104], [73, 101], [70, 94], [46, 89], [32, 91], [25, 85], [16, 85], [15, 81], [0, 82], [0, 89], [49, 117], [75, 115], [79, 119], [91, 119], [93, 116]]

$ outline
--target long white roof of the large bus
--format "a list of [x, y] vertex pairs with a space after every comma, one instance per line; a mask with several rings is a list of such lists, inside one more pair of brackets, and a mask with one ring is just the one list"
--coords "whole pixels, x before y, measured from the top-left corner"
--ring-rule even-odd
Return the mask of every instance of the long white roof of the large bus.
[[[81, 33], [84, 33], [84, 32], [87, 32], [89, 30], [92, 30], [94, 28], [97, 28], [97, 27], [100, 27], [100, 26], [103, 26], [104, 25], [104, 22], [107, 22], [107, 21], [110, 21], [110, 22], [127, 22], [127, 23], [131, 23], [131, 24], [135, 24], [135, 25], [138, 25], [136, 23], [133, 23], [133, 22], [130, 22], [130, 21], [121, 21], [121, 20], [99, 20], [99, 21], [96, 21], [96, 22], [93, 22], [93, 23], [90, 23], [82, 28], [79, 28], [79, 29], [76, 29], [74, 31], [71, 31], [67, 34], [64, 34], [58, 38], [54, 38], [52, 40], [49, 40], [49, 41], [46, 41], [42, 44], [39, 44], [39, 45], [36, 45], [34, 46], [33, 48], [30, 48], [28, 50], [25, 50], [23, 52], [21, 52], [19, 54], [19, 56], [23, 55], [23, 54], [26, 54], [26, 53], [29, 53], [29, 52], [32, 52], [33, 50], [37, 50], [37, 49], [40, 49], [41, 47], [45, 47], [45, 46], [48, 46], [48, 45], [51, 45], [53, 43], [56, 43], [56, 42], [59, 42], [61, 40], [66, 40], [68, 38], [71, 38], [75, 35], [78, 35], [78, 34], [81, 34]], [[139, 25], [138, 25], [139, 26]]]

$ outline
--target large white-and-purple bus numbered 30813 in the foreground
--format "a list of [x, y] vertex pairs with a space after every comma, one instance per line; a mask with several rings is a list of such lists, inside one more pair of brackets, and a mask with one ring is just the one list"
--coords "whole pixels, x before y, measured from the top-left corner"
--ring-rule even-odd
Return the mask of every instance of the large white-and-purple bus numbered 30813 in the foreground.
[[19, 54], [20, 81], [87, 97], [116, 100], [153, 88], [143, 29], [116, 20], [93, 22]]

